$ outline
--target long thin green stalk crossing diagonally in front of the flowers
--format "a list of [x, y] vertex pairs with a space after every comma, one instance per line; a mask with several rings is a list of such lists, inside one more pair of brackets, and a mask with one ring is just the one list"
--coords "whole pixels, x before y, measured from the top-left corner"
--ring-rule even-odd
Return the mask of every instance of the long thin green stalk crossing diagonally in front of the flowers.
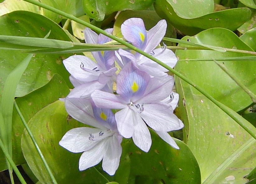
[[[147, 58], [155, 61], [156, 63], [158, 63], [159, 65], [163, 66], [164, 68], [166, 68], [167, 70], [169, 70], [170, 72], [172, 72], [173, 74], [177, 75], [179, 78], [183, 79], [185, 82], [189, 83], [190, 85], [192, 85], [194, 88], [196, 88], [199, 92], [201, 92], [204, 96], [206, 96], [209, 100], [211, 100], [214, 104], [216, 104], [218, 107], [220, 107], [221, 110], [223, 110], [225, 113], [227, 113], [232, 119], [234, 119], [239, 125], [241, 125], [241, 127], [243, 127], [251, 136], [253, 136], [256, 139], [256, 129], [249, 123], [246, 122], [244, 123], [243, 121], [239, 120], [239, 117], [236, 115], [236, 113], [232, 110], [230, 110], [228, 107], [226, 107], [225, 105], [223, 105], [222, 103], [220, 103], [219, 101], [215, 100], [211, 95], [209, 95], [206, 91], [204, 91], [202, 88], [198, 87], [196, 84], [194, 84], [190, 79], [186, 78], [185, 76], [183, 76], [182, 74], [180, 74], [178, 71], [174, 70], [173, 68], [169, 67], [168, 65], [164, 64], [163, 62], [161, 62], [160, 60], [156, 59], [154, 56], [151, 56], [150, 54], [140, 50], [139, 48], [131, 45], [130, 43], [127, 43], [126, 41], [117, 38], [114, 35], [108, 34], [107, 32], [105, 32], [104, 30], [91, 25], [88, 22], [85, 22], [81, 19], [76, 18], [73, 15], [70, 15], [68, 13], [65, 13], [63, 11], [60, 11], [56, 8], [53, 8], [51, 6], [45, 5], [41, 2], [38, 2], [36, 0], [24, 0], [26, 2], [30, 2], [32, 4], [35, 4], [37, 6], [40, 6], [42, 8], [45, 8], [47, 10], [50, 10], [52, 12], [55, 12], [61, 16], [64, 16], [66, 18], [69, 18], [70, 20], [74, 20], [79, 24], [82, 24], [98, 33], [101, 33], [113, 40], [116, 40], [117, 42], [121, 43], [122, 45], [125, 45], [126, 47], [129, 47], [130, 49], [134, 50], [135, 52], [138, 52], [140, 54], [142, 54], [143, 56], [146, 56]], [[255, 52], [256, 54], [256, 52]]]

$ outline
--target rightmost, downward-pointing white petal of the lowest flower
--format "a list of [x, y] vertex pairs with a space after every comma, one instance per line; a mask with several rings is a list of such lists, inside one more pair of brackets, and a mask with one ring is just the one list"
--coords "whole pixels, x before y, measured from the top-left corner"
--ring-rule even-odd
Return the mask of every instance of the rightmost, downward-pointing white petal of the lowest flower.
[[109, 175], [114, 175], [119, 167], [122, 147], [116, 136], [109, 137], [107, 151], [102, 160], [102, 169]]

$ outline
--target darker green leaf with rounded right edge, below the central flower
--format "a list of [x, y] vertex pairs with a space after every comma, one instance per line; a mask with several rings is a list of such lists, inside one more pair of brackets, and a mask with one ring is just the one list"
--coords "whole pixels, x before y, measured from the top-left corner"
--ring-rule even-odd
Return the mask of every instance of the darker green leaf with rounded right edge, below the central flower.
[[123, 153], [130, 157], [131, 176], [146, 176], [155, 183], [201, 184], [197, 160], [185, 143], [174, 138], [180, 148], [176, 150], [153, 131], [151, 137], [152, 146], [148, 153], [136, 147], [132, 140], [122, 145]]

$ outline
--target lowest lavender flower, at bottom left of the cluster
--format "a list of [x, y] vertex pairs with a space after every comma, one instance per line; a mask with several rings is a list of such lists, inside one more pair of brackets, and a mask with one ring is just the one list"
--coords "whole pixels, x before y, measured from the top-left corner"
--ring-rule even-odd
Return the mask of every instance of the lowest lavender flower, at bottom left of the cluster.
[[122, 137], [117, 131], [114, 114], [82, 98], [65, 98], [65, 107], [74, 119], [96, 128], [73, 128], [66, 132], [59, 145], [73, 153], [83, 152], [79, 159], [80, 171], [102, 160], [102, 169], [114, 175], [122, 154]]

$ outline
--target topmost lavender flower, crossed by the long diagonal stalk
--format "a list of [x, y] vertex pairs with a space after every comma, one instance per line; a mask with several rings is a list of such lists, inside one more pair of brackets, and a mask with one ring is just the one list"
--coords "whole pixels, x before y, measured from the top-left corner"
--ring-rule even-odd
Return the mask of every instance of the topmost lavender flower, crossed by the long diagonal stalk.
[[[121, 32], [124, 38], [132, 43], [135, 47], [138, 47], [144, 52], [151, 54], [155, 58], [173, 68], [177, 63], [175, 54], [170, 49], [167, 49], [166, 46], [155, 49], [163, 39], [166, 28], [166, 21], [160, 20], [157, 25], [146, 32], [142, 19], [130, 18], [124, 21], [124, 23], [121, 25]], [[168, 71], [167, 69], [139, 53], [135, 53], [135, 55], [133, 55], [130, 52], [123, 51], [122, 49], [115, 53], [116, 61], [121, 67], [126, 65], [126, 63], [131, 60], [134, 61], [134, 65], [136, 67], [147, 72], [151, 76], [167, 76], [165, 73]]]

